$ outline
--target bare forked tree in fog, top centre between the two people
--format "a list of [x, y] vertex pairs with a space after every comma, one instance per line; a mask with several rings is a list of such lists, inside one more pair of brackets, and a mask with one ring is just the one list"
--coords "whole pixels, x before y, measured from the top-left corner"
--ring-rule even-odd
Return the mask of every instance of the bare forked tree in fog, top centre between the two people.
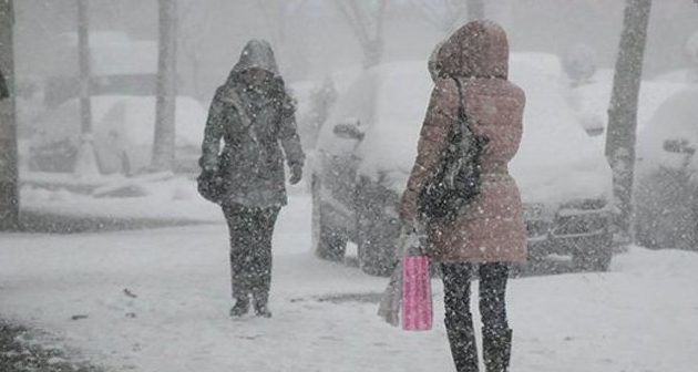
[[333, 0], [333, 4], [359, 40], [363, 69], [379, 64], [383, 54], [386, 0]]

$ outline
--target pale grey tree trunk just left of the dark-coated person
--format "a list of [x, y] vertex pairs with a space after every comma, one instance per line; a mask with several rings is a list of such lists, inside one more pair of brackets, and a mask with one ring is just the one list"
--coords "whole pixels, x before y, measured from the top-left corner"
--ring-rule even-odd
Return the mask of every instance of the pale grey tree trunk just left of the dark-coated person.
[[152, 170], [174, 170], [176, 96], [176, 0], [158, 0], [157, 100]]

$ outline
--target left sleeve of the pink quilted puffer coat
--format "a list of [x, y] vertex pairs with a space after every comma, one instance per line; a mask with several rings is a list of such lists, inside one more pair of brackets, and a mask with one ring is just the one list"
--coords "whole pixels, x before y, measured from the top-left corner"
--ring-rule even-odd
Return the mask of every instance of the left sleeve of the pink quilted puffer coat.
[[441, 163], [448, 145], [451, 125], [458, 121], [458, 86], [454, 80], [441, 80], [434, 86], [420, 132], [417, 159], [402, 194], [400, 216], [417, 217], [417, 203], [427, 182]]

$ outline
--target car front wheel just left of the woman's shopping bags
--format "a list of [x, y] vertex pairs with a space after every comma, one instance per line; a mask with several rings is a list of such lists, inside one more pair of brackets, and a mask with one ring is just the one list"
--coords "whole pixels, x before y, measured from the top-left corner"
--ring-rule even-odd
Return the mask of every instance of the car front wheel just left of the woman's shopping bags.
[[400, 229], [392, 220], [360, 217], [358, 256], [361, 270], [377, 277], [389, 277], [396, 265], [396, 245]]

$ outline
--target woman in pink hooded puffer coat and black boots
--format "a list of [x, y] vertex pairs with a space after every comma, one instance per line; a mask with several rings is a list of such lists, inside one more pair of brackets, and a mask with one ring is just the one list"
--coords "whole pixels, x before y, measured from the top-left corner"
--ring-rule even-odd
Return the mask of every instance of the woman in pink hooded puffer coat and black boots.
[[505, 308], [507, 264], [526, 258], [523, 208], [507, 170], [521, 142], [525, 95], [507, 81], [506, 34], [491, 21], [473, 21], [455, 31], [439, 49], [435, 66], [439, 79], [402, 196], [401, 217], [406, 224], [417, 221], [420, 193], [442, 162], [462, 104], [473, 135], [486, 138], [481, 189], [453, 220], [427, 221], [429, 254], [441, 262], [445, 326], [456, 370], [479, 369], [470, 312], [470, 277], [476, 269], [484, 364], [487, 372], [504, 372], [512, 340]]

